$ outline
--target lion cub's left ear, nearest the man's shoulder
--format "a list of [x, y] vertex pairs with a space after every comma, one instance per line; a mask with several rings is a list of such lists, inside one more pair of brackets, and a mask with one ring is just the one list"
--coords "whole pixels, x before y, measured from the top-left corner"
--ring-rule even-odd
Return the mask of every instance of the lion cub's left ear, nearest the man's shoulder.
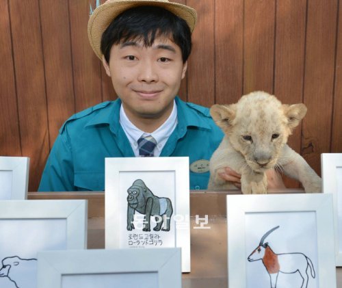
[[232, 125], [236, 116], [236, 105], [218, 105], [215, 104], [210, 108], [210, 114], [216, 125], [223, 131], [228, 131]]

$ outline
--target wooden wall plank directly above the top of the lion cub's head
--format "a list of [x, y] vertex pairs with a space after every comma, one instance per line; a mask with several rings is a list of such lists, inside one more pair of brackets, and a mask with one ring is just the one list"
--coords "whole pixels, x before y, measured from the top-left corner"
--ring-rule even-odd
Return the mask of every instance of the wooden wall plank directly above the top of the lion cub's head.
[[245, 1], [244, 94], [273, 92], [275, 0]]

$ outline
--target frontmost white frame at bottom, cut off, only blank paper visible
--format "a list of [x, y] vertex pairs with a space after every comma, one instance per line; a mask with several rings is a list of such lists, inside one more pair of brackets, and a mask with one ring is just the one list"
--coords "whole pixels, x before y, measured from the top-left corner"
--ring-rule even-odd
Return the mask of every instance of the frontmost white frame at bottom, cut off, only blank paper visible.
[[181, 249], [38, 253], [38, 288], [181, 288]]

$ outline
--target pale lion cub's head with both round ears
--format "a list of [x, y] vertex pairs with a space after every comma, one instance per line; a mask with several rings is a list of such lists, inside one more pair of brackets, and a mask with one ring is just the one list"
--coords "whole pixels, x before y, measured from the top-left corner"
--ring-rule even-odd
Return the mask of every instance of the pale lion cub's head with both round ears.
[[252, 92], [232, 105], [213, 105], [213, 120], [244, 155], [252, 170], [276, 166], [282, 146], [306, 114], [304, 104], [283, 105], [266, 92]]

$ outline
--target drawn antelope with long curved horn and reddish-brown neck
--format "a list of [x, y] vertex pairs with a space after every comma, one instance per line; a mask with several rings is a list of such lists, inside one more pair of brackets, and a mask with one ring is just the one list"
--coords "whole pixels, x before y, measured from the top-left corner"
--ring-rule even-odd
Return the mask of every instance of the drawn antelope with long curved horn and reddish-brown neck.
[[299, 272], [303, 279], [301, 288], [306, 288], [308, 287], [308, 267], [310, 267], [311, 276], [315, 278], [315, 270], [313, 269], [313, 263], [310, 258], [303, 253], [297, 252], [276, 254], [268, 246], [267, 242], [265, 244], [263, 243], [266, 237], [278, 228], [279, 226], [272, 228], [265, 233], [263, 237], [261, 237], [259, 246], [255, 248], [250, 256], [248, 256], [248, 261], [263, 261], [263, 265], [265, 266], [271, 280], [271, 288], [276, 288], [279, 272], [285, 274], [294, 274], [295, 272]]

